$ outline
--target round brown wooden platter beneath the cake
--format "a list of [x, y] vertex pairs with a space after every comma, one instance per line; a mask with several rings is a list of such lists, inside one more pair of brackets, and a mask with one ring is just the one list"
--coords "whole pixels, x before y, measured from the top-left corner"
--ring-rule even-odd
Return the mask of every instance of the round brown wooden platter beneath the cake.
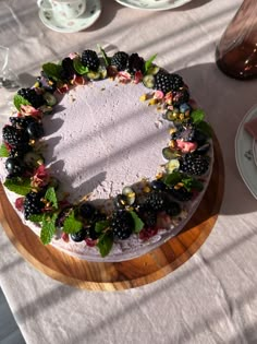
[[24, 226], [0, 185], [0, 222], [17, 251], [36, 269], [62, 283], [91, 290], [121, 290], [157, 281], [186, 262], [205, 242], [218, 217], [224, 189], [224, 167], [215, 139], [215, 164], [208, 189], [186, 227], [159, 248], [124, 262], [95, 263], [73, 258]]

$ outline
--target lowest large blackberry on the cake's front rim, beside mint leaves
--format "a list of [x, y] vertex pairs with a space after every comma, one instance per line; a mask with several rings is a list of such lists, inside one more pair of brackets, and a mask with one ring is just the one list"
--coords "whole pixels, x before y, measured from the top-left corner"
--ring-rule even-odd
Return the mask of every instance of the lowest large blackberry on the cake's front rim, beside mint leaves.
[[133, 230], [134, 221], [132, 215], [126, 211], [114, 212], [111, 218], [111, 228], [115, 238], [127, 239]]

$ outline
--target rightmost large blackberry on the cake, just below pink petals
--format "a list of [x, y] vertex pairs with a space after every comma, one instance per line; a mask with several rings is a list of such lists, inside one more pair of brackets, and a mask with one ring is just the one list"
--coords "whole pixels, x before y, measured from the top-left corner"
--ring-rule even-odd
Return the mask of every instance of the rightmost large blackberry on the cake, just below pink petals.
[[209, 157], [198, 154], [185, 154], [180, 159], [180, 170], [195, 176], [204, 175], [209, 168]]

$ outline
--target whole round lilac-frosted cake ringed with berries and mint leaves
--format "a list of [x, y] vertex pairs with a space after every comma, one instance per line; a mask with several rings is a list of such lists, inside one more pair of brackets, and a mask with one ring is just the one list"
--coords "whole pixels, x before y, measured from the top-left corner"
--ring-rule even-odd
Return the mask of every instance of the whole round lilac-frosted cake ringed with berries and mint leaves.
[[211, 129], [183, 79], [155, 59], [87, 49], [45, 63], [17, 91], [1, 181], [42, 245], [122, 261], [175, 236], [196, 211], [212, 169]]

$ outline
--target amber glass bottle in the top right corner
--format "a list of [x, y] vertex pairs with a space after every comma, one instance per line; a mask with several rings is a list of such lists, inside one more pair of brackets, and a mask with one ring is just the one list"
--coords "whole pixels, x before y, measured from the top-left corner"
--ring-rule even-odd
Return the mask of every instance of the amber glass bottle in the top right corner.
[[257, 0], [244, 0], [221, 37], [216, 61], [229, 76], [257, 78]]

